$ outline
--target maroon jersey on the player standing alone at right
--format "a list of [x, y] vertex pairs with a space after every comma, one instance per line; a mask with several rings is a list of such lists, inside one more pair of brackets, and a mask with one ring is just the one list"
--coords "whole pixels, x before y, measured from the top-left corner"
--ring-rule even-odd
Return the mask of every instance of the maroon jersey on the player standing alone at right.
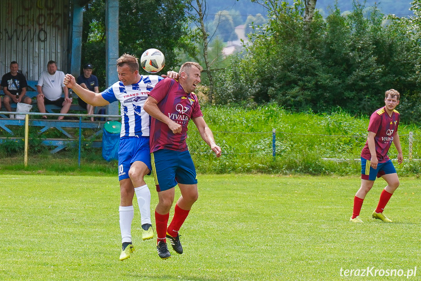
[[[384, 163], [389, 160], [387, 152], [392, 144], [393, 137], [398, 131], [399, 119], [400, 114], [398, 111], [393, 110], [392, 116], [389, 116], [384, 107], [377, 109], [371, 114], [368, 131], [376, 133], [374, 143], [379, 163]], [[361, 157], [367, 160], [371, 159], [371, 153], [368, 149], [368, 140], [365, 142], [365, 146], [361, 151]]]

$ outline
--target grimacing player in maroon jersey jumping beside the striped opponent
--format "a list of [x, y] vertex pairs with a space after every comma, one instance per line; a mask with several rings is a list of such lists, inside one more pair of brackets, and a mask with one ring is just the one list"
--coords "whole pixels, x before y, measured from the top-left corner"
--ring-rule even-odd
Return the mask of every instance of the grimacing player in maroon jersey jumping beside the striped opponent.
[[[152, 116], [149, 142], [152, 173], [159, 198], [155, 208], [155, 223], [157, 251], [161, 259], [171, 257], [166, 238], [171, 241], [174, 251], [182, 254], [179, 230], [199, 196], [195, 166], [186, 145], [190, 119], [216, 156], [221, 156], [221, 148], [216, 145], [212, 131], [203, 119], [198, 98], [193, 93], [200, 83], [201, 70], [198, 63], [184, 63], [179, 71], [179, 81], [160, 81], [148, 93], [149, 97], [143, 107]], [[167, 227], [176, 185], [180, 188], [181, 196]]]

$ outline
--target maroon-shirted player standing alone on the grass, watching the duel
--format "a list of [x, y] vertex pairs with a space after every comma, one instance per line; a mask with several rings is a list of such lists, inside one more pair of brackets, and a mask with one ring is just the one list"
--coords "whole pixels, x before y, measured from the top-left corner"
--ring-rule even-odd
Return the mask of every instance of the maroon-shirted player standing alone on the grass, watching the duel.
[[368, 137], [361, 151], [361, 187], [354, 197], [354, 209], [350, 218], [352, 222], [362, 222], [360, 211], [365, 195], [373, 187], [376, 177], [382, 177], [387, 186], [381, 192], [379, 204], [372, 216], [384, 222], [392, 222], [384, 213], [384, 207], [399, 186], [399, 178], [392, 161], [387, 156], [390, 145], [398, 151], [398, 164], [403, 161], [398, 126], [400, 114], [395, 110], [399, 105], [401, 94], [394, 89], [385, 92], [384, 107], [371, 114], [368, 124]]

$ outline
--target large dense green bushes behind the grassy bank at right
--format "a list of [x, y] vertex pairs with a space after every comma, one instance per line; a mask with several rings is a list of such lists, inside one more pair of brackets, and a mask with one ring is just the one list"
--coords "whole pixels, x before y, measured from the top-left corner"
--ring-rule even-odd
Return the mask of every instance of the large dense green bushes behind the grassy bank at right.
[[308, 34], [302, 0], [265, 3], [271, 8], [269, 22], [249, 35], [246, 54], [225, 71], [226, 82], [215, 94], [218, 104], [252, 99], [298, 112], [340, 107], [369, 115], [384, 105], [384, 92], [395, 88], [407, 103], [403, 108], [412, 108], [402, 120], [421, 122], [421, 112], [414, 109], [421, 108], [421, 13], [406, 21], [353, 1], [346, 15], [338, 7], [326, 18], [316, 13]]

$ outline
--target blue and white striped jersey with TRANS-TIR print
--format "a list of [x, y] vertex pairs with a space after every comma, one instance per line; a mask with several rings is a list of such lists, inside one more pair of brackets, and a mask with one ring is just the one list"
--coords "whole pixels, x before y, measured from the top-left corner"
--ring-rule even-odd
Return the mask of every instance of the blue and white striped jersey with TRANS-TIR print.
[[142, 75], [136, 84], [124, 86], [121, 81], [114, 83], [101, 93], [109, 103], [120, 101], [121, 132], [125, 136], [149, 136], [149, 114], [143, 110], [148, 93], [163, 78], [157, 75]]

